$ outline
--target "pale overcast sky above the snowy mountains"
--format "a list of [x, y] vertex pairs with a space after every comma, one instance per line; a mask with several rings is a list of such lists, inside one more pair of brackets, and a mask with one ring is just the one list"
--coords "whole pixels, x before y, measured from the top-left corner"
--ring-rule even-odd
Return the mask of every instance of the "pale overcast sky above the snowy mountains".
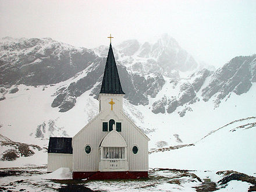
[[51, 37], [94, 48], [168, 33], [198, 61], [256, 54], [256, 1], [0, 1], [0, 37]]

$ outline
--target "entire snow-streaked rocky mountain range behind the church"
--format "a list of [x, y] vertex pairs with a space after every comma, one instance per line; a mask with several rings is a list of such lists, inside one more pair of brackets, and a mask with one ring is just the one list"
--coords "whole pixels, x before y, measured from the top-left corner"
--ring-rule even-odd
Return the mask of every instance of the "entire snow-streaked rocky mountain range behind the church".
[[[167, 34], [155, 42], [124, 41], [113, 48], [120, 81], [133, 105], [149, 105], [153, 113], [184, 116], [190, 105], [210, 99], [217, 107], [230, 93], [241, 95], [256, 81], [256, 55], [233, 58], [216, 72], [202, 68]], [[66, 112], [87, 91], [97, 97], [108, 47], [75, 48], [51, 38], [3, 38], [0, 44], [1, 97], [16, 93], [15, 85], [54, 86], [53, 108]], [[184, 72], [190, 76], [181, 78]], [[10, 88], [11, 87], [11, 88]]]

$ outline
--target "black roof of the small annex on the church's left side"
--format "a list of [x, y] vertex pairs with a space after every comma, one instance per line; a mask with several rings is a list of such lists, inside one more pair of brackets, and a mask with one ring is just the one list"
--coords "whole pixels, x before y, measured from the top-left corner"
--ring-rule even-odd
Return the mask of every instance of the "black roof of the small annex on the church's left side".
[[48, 153], [73, 154], [72, 137], [50, 137]]

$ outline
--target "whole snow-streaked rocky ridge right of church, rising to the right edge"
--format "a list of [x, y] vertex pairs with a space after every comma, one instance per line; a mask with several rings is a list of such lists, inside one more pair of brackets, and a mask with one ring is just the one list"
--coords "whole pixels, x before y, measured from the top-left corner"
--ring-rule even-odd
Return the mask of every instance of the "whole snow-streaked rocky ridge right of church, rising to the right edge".
[[170, 80], [168, 93], [152, 104], [154, 113], [172, 113], [178, 106], [186, 105], [183, 111], [178, 112], [184, 116], [191, 111], [190, 105], [201, 99], [209, 99], [218, 107], [222, 99], [228, 99], [230, 94], [241, 95], [250, 90], [255, 83], [256, 55], [237, 56], [216, 72], [202, 69], [191, 74], [186, 80]]

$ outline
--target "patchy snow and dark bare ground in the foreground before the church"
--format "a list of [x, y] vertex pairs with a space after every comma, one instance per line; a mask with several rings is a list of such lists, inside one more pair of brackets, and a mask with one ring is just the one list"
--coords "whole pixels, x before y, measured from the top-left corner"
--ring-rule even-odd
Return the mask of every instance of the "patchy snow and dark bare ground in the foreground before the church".
[[[70, 180], [68, 168], [46, 173], [45, 167], [0, 169], [1, 190], [11, 191], [247, 191], [253, 184], [231, 180], [220, 184], [223, 175], [177, 169], [153, 169], [148, 179]], [[256, 181], [255, 181], [256, 182]]]

